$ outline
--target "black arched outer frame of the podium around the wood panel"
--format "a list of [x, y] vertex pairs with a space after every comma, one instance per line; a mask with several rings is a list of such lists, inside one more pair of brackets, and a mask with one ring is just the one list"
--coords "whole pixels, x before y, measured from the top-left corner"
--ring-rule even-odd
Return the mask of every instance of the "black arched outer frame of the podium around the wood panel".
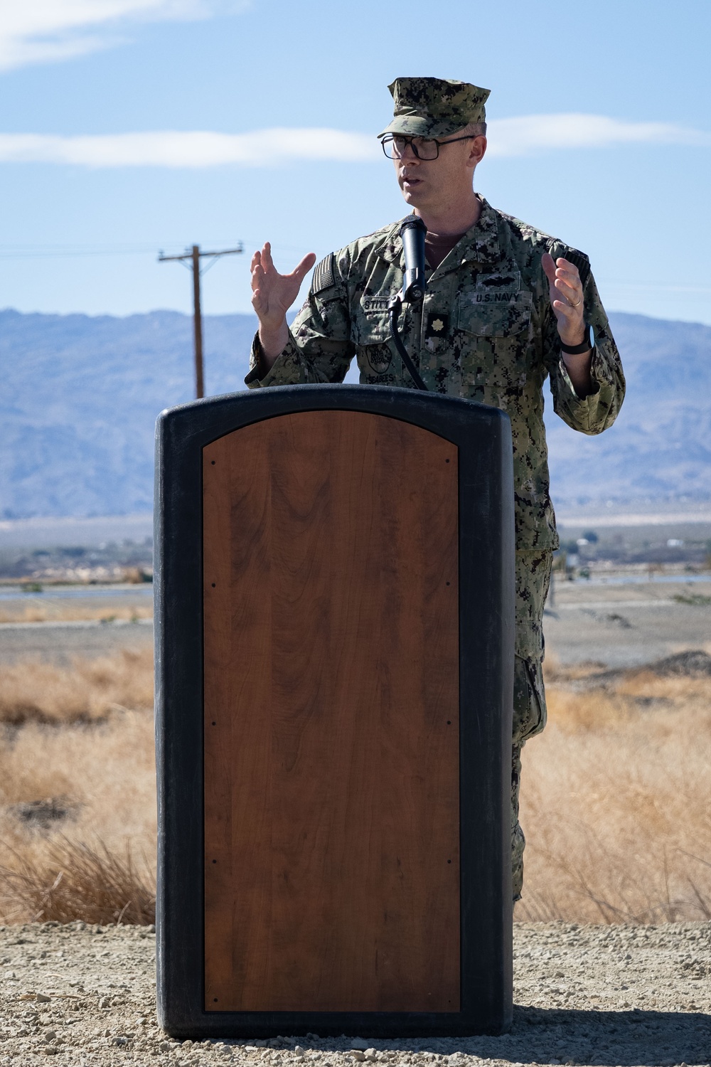
[[[204, 1009], [204, 446], [294, 412], [341, 410], [422, 427], [458, 448], [460, 1010]], [[156, 442], [158, 1014], [175, 1037], [502, 1033], [512, 1020], [511, 736], [514, 490], [508, 417], [415, 389], [295, 385], [164, 411]], [[485, 870], [487, 876], [482, 878]]]

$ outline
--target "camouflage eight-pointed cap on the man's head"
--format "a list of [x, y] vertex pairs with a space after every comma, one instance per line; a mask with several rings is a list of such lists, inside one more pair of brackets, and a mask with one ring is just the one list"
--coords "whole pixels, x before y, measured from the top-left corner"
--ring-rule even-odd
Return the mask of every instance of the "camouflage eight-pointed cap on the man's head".
[[394, 117], [378, 137], [450, 137], [469, 123], [486, 122], [484, 103], [490, 90], [450, 78], [395, 78], [388, 89]]

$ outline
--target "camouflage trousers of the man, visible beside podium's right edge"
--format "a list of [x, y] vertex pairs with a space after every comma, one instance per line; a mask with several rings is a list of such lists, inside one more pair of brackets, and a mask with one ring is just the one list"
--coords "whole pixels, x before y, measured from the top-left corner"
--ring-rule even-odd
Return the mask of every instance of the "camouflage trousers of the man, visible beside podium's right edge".
[[550, 583], [551, 552], [516, 553], [516, 655], [511, 760], [511, 850], [514, 901], [523, 887], [526, 838], [518, 822], [521, 749], [546, 726], [543, 614]]

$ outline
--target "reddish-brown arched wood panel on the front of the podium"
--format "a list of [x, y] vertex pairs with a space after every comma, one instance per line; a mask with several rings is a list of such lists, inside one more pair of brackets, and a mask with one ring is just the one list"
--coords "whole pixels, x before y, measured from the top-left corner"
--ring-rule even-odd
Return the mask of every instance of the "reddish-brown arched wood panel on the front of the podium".
[[203, 449], [208, 1012], [459, 1010], [457, 473], [365, 412]]

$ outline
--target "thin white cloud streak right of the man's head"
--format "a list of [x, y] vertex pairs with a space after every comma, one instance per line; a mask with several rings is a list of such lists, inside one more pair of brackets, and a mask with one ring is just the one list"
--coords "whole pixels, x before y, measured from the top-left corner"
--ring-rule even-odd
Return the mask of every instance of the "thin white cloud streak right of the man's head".
[[596, 148], [613, 144], [711, 145], [711, 133], [672, 123], [628, 123], [608, 115], [569, 112], [494, 118], [488, 124], [490, 156], [528, 156], [551, 148]]

